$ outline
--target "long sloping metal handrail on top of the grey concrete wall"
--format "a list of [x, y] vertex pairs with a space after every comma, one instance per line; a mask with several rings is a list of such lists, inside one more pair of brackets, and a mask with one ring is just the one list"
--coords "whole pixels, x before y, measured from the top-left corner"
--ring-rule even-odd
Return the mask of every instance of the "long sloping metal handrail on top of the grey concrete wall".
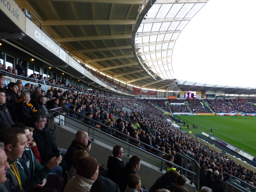
[[[110, 137], [110, 138], [112, 138], [112, 139], [114, 139], [114, 140], [118, 140], [119, 142], [122, 142], [122, 143], [128, 145], [128, 146], [129, 146], [129, 147], [128, 147], [128, 154], [130, 154], [131, 148], [136, 148], [137, 150], [140, 151], [140, 154], [138, 154], [138, 155], [140, 155], [140, 156], [142, 156], [143, 153], [146, 153], [146, 154], [148, 154], [148, 155], [150, 155], [150, 156], [153, 156], [154, 158], [157, 158], [157, 159], [161, 160], [161, 165], [160, 165], [160, 170], [161, 170], [161, 171], [162, 171], [162, 168], [163, 168], [163, 162], [167, 162], [168, 164], [172, 164], [173, 166], [178, 167], [178, 168], [180, 168], [181, 170], [186, 170], [185, 168], [183, 168], [183, 167], [181, 167], [181, 166], [178, 166], [178, 165], [176, 165], [176, 164], [174, 164], [174, 163], [172, 163], [172, 162], [169, 162], [169, 161], [167, 161], [167, 160], [165, 160], [165, 159], [163, 159], [163, 158], [160, 158], [159, 156], [156, 156], [156, 155], [154, 155], [154, 154], [151, 154], [150, 152], [147, 152], [147, 151], [145, 151], [145, 150], [142, 150], [142, 149], [140, 149], [140, 148], [138, 148], [138, 147], [136, 147], [136, 146], [134, 146], [134, 145], [132, 145], [132, 144], [129, 144], [129, 143], [123, 141], [123, 140], [120, 140], [119, 138], [116, 138], [116, 137], [114, 137], [114, 136], [111, 136], [111, 135], [109, 135], [109, 134], [106, 134], [105, 132], [103, 132], [103, 131], [101, 131], [101, 130], [99, 130], [99, 129], [97, 129], [97, 128], [94, 128], [94, 127], [92, 127], [92, 126], [89, 126], [89, 125], [87, 125], [87, 124], [84, 124], [84, 123], [80, 122], [79, 120], [76, 120], [76, 119], [74, 119], [74, 118], [71, 118], [70, 116], [67, 116], [66, 114], [62, 114], [61, 112], [56, 111], [56, 109], [59, 109], [59, 108], [54, 108], [54, 109], [51, 109], [51, 110], [48, 110], [48, 111], [49, 111], [49, 112], [55, 112], [55, 113], [59, 114], [59, 120], [60, 120], [60, 116], [64, 116], [65, 118], [72, 119], [72, 120], [78, 122], [79, 124], [82, 124], [82, 125], [84, 125], [84, 126], [87, 126], [87, 127], [88, 127], [88, 134], [89, 134], [89, 132], [90, 132], [89, 129], [92, 129], [93, 132], [95, 132], [95, 131], [96, 131], [96, 132], [100, 132], [100, 133], [102, 133], [102, 134], [104, 134], [104, 135], [106, 135], [106, 136], [108, 136], [108, 137]], [[55, 117], [55, 118], [56, 118], [56, 117]], [[81, 129], [81, 127], [79, 127], [79, 129]], [[90, 135], [89, 135], [89, 136], [90, 136]], [[98, 137], [99, 137], [99, 136], [98, 136]], [[92, 138], [92, 139], [94, 140], [94, 134], [93, 134], [93, 138]], [[102, 138], [102, 139], [104, 139], [104, 138]], [[108, 142], [111, 142], [111, 141], [108, 140]], [[115, 143], [113, 143], [113, 144], [115, 144]], [[135, 152], [133, 151], [133, 153], [135, 153]], [[144, 157], [144, 156], [143, 156], [143, 157]], [[146, 157], [145, 157], [145, 158], [146, 158]], [[150, 160], [153, 161], [152, 159], [150, 159]], [[190, 170], [186, 170], [186, 172], [189, 172], [190, 174], [195, 175], [195, 173], [191, 172]]]

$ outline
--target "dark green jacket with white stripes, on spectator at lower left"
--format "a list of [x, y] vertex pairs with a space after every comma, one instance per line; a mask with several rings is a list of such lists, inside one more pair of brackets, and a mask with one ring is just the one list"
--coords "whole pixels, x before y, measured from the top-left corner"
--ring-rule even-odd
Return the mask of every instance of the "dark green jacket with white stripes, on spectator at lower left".
[[52, 171], [47, 166], [43, 167], [38, 163], [30, 147], [25, 149], [22, 157], [18, 159], [17, 165], [22, 187], [27, 192], [31, 191], [34, 185], [40, 184]]

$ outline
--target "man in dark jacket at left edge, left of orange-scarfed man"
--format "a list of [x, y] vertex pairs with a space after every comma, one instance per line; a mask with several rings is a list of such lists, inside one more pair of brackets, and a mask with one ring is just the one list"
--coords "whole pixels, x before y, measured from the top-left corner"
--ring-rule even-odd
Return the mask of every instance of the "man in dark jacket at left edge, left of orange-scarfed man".
[[10, 116], [9, 110], [6, 107], [5, 90], [0, 89], [0, 130], [8, 128], [15, 124]]

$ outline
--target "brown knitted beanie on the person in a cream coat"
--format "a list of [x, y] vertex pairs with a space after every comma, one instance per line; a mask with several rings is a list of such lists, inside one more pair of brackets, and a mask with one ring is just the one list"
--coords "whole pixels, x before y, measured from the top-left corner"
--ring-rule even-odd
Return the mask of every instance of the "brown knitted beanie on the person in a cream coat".
[[76, 174], [90, 179], [98, 168], [98, 162], [93, 157], [80, 157], [76, 164]]

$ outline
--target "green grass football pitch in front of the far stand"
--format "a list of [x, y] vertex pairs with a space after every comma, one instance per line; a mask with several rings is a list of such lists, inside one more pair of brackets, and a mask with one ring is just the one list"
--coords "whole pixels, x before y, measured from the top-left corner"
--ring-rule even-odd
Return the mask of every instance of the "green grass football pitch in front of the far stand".
[[[255, 116], [190, 116], [175, 115], [176, 118], [184, 120], [186, 126], [182, 130], [187, 130], [187, 123], [192, 134], [203, 132], [223, 140], [253, 156], [256, 156], [256, 117]], [[193, 124], [199, 129], [193, 128]]]

